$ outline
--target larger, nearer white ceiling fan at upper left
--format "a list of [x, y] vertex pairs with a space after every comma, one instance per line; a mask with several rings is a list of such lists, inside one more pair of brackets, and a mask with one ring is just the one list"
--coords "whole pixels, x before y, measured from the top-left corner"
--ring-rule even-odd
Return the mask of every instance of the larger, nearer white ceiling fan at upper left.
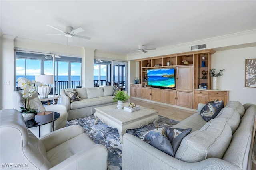
[[79, 28], [73, 30], [73, 27], [71, 27], [71, 26], [66, 26], [66, 30], [63, 31], [63, 30], [60, 30], [60, 29], [58, 29], [58, 28], [56, 28], [56, 27], [54, 27], [54, 26], [51, 26], [51, 25], [47, 25], [47, 26], [49, 26], [49, 27], [51, 27], [51, 28], [54, 28], [55, 30], [58, 30], [58, 31], [62, 32], [62, 34], [45, 34], [45, 35], [47, 35], [47, 36], [58, 36], [58, 35], [66, 36], [66, 37], [68, 38], [68, 41], [69, 41], [69, 42], [72, 42], [72, 41], [73, 41], [72, 37], [84, 38], [84, 39], [87, 39], [87, 40], [90, 40], [90, 39], [91, 39], [90, 37], [76, 35], [76, 34], [78, 34], [78, 33], [80, 33], [80, 32], [85, 31], [85, 30], [82, 29], [81, 27], [79, 27]]

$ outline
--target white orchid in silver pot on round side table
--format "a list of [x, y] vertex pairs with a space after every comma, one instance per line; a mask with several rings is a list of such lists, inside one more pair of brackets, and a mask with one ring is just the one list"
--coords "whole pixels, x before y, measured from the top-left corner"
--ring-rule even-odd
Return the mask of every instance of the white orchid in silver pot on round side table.
[[22, 97], [25, 100], [25, 107], [20, 107], [22, 110], [22, 116], [25, 121], [33, 119], [35, 115], [37, 115], [37, 111], [35, 109], [31, 109], [29, 105], [29, 97], [32, 97], [33, 94], [36, 93], [37, 87], [42, 87], [41, 82], [36, 82], [35, 80], [29, 80], [23, 77], [18, 78], [18, 87], [22, 89]]

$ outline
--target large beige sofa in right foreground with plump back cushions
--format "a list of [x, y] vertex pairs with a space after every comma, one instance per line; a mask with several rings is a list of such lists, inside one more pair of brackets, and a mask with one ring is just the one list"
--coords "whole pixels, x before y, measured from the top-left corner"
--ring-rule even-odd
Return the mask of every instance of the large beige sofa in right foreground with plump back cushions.
[[200, 113], [194, 113], [173, 126], [192, 128], [192, 132], [182, 140], [175, 157], [126, 133], [123, 136], [122, 169], [251, 169], [255, 113], [256, 105], [242, 105], [238, 101], [229, 101], [209, 122], [204, 121]]

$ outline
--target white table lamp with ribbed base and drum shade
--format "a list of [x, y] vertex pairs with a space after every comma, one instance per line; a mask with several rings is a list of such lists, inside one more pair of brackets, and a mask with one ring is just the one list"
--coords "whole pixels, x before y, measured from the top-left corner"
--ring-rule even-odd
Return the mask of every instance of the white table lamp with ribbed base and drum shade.
[[51, 91], [51, 87], [48, 85], [53, 84], [53, 75], [36, 75], [36, 81], [40, 81], [43, 84], [42, 87], [37, 88], [40, 97], [47, 98]]

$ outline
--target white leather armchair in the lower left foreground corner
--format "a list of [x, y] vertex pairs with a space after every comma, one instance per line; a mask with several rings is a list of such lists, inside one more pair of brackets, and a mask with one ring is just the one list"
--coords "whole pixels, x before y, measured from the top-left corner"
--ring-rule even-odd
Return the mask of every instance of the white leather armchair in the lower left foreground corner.
[[107, 169], [106, 147], [90, 140], [79, 125], [37, 138], [15, 109], [0, 110], [0, 143], [1, 169], [16, 164], [40, 170]]

